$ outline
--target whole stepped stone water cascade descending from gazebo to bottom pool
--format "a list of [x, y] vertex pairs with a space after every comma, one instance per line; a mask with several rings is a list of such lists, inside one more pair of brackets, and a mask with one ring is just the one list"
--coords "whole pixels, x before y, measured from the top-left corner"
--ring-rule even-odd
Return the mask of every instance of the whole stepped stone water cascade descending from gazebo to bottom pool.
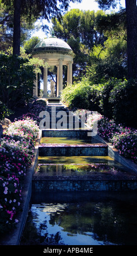
[[[69, 119], [68, 109], [57, 104], [50, 104], [46, 111], [50, 116], [50, 127], [42, 130], [38, 163], [32, 178], [34, 193], [106, 191], [127, 186], [124, 180], [121, 185], [122, 181], [116, 175], [108, 175], [109, 167], [121, 169], [122, 166], [108, 156], [107, 144], [97, 136], [89, 136], [90, 130], [83, 129], [79, 118], [71, 116]], [[137, 183], [135, 185], [133, 180], [128, 186], [136, 187]]]

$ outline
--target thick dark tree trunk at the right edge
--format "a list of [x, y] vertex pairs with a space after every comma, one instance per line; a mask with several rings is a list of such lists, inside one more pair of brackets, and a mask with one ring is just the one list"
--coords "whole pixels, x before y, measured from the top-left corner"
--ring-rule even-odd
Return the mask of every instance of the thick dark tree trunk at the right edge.
[[128, 79], [137, 79], [137, 8], [136, 0], [126, 0]]

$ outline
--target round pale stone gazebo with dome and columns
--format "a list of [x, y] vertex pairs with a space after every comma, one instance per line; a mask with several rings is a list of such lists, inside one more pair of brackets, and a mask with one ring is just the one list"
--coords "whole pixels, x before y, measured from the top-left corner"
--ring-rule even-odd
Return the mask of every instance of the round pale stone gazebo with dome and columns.
[[[60, 99], [61, 90], [63, 87], [63, 65], [67, 65], [67, 83], [72, 83], [73, 73], [72, 65], [74, 53], [70, 46], [62, 39], [58, 39], [54, 34], [42, 41], [34, 47], [32, 52], [34, 58], [43, 59], [49, 66], [57, 66], [57, 87], [56, 97]], [[48, 68], [44, 68], [43, 72], [43, 97], [48, 98], [47, 84], [48, 84]], [[37, 96], [37, 78], [35, 81], [35, 88], [33, 96]], [[50, 97], [51, 99], [51, 97]]]

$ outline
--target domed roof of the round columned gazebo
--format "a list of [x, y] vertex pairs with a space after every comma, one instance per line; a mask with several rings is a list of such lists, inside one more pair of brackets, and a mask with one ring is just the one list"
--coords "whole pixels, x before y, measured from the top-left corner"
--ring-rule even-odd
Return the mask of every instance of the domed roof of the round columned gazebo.
[[43, 51], [63, 51], [63, 52], [73, 52], [67, 42], [62, 39], [58, 39], [54, 34], [47, 39], [43, 39], [38, 42], [34, 47], [34, 52]]

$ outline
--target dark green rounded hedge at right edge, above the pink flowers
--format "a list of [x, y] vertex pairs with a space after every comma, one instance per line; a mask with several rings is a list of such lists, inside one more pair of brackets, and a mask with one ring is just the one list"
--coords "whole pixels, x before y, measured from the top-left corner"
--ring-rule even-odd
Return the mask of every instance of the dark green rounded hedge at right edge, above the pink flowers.
[[136, 95], [135, 80], [110, 79], [102, 90], [102, 113], [108, 118], [113, 118], [116, 123], [137, 127]]

